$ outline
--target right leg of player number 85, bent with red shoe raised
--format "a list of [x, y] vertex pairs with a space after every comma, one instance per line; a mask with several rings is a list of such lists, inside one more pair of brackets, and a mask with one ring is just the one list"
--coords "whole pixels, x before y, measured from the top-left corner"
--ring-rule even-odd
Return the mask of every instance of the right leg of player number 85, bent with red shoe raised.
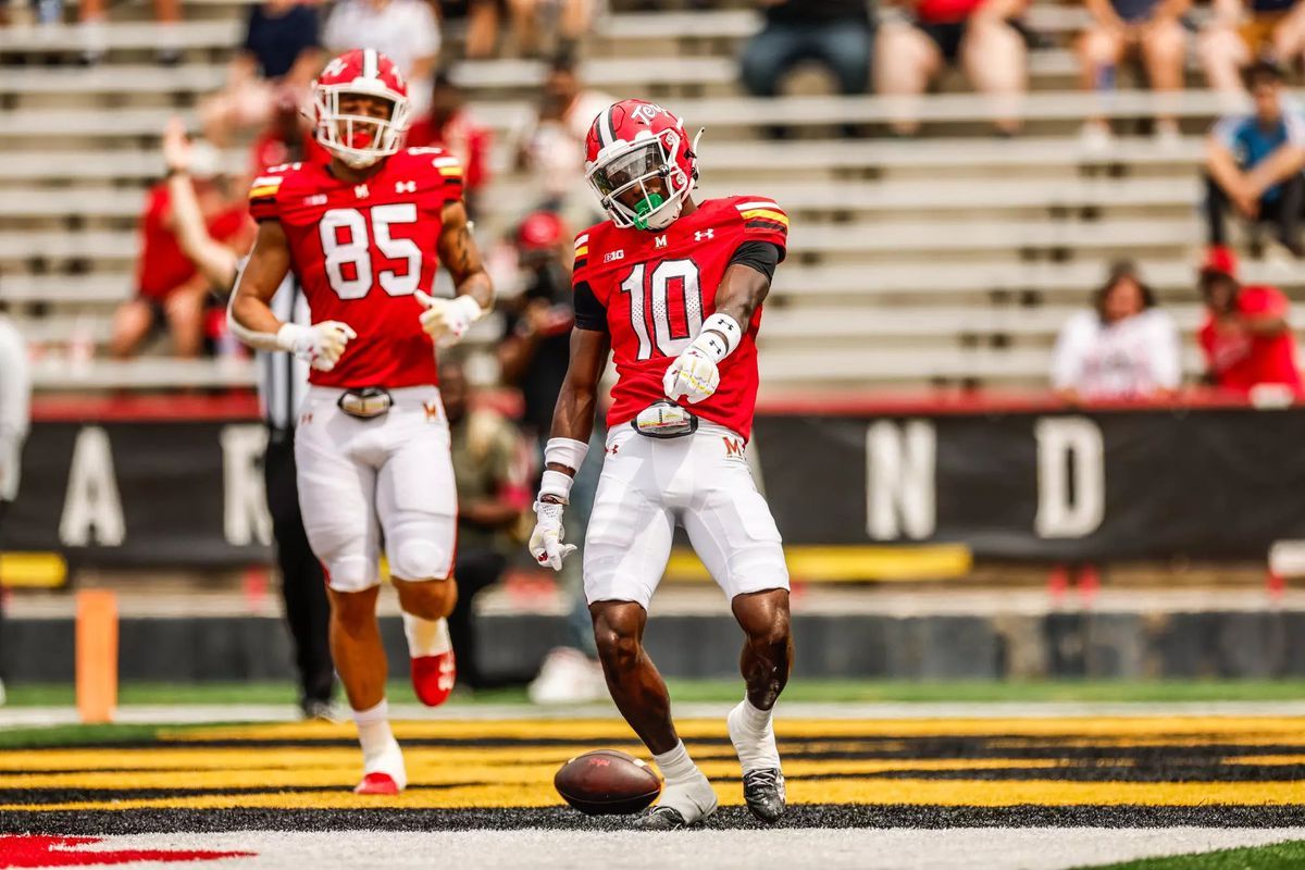
[[458, 496], [449, 425], [433, 387], [393, 395], [395, 406], [384, 421], [388, 455], [377, 473], [376, 513], [403, 610], [412, 687], [422, 703], [435, 707], [448, 700], [457, 680], [448, 622], [458, 603], [453, 579]]

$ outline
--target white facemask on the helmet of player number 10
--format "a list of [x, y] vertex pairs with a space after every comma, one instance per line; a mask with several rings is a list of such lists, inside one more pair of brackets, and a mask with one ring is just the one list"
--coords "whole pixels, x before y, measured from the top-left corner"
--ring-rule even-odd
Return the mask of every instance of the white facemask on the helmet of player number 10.
[[[684, 145], [675, 130], [662, 130], [619, 142], [609, 154], [599, 155], [585, 179], [612, 223], [655, 231], [666, 230], [680, 217], [684, 198], [693, 189], [693, 179], [675, 159]], [[662, 180], [659, 189], [650, 189], [652, 179]]]

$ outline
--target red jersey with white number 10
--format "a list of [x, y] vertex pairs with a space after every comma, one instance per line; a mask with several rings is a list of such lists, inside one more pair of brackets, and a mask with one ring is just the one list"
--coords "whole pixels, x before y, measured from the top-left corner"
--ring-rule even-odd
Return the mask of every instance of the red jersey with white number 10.
[[[617, 427], [658, 399], [671, 361], [716, 310], [716, 287], [740, 245], [769, 241], [783, 260], [788, 217], [765, 197], [707, 200], [663, 231], [621, 228], [612, 222], [576, 237], [572, 280], [607, 310], [616, 386], [607, 425]], [[737, 350], [720, 361], [716, 391], [686, 406], [744, 438], [752, 434], [757, 404], [757, 329], [761, 307], [746, 325]]]

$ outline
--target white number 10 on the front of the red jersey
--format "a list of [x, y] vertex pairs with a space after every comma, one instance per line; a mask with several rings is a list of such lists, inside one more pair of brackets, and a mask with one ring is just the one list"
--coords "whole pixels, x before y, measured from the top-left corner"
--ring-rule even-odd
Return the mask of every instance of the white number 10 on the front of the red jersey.
[[[654, 346], [663, 356], [679, 356], [702, 330], [702, 286], [698, 263], [692, 260], [663, 260], [651, 270], [638, 263], [621, 282], [621, 292], [630, 295], [630, 326], [639, 340], [641, 360], [652, 357]], [[671, 320], [673, 292], [681, 297], [681, 323]]]

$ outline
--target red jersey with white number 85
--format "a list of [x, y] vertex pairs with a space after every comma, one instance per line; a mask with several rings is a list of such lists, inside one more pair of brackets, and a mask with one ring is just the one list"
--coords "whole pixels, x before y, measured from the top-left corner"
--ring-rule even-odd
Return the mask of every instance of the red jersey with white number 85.
[[462, 197], [462, 167], [442, 149], [406, 149], [354, 184], [326, 163], [291, 163], [254, 179], [249, 210], [279, 220], [313, 322], [348, 323], [358, 338], [330, 372], [337, 387], [437, 383], [435, 343], [422, 330], [418, 290], [431, 292], [445, 203]]

